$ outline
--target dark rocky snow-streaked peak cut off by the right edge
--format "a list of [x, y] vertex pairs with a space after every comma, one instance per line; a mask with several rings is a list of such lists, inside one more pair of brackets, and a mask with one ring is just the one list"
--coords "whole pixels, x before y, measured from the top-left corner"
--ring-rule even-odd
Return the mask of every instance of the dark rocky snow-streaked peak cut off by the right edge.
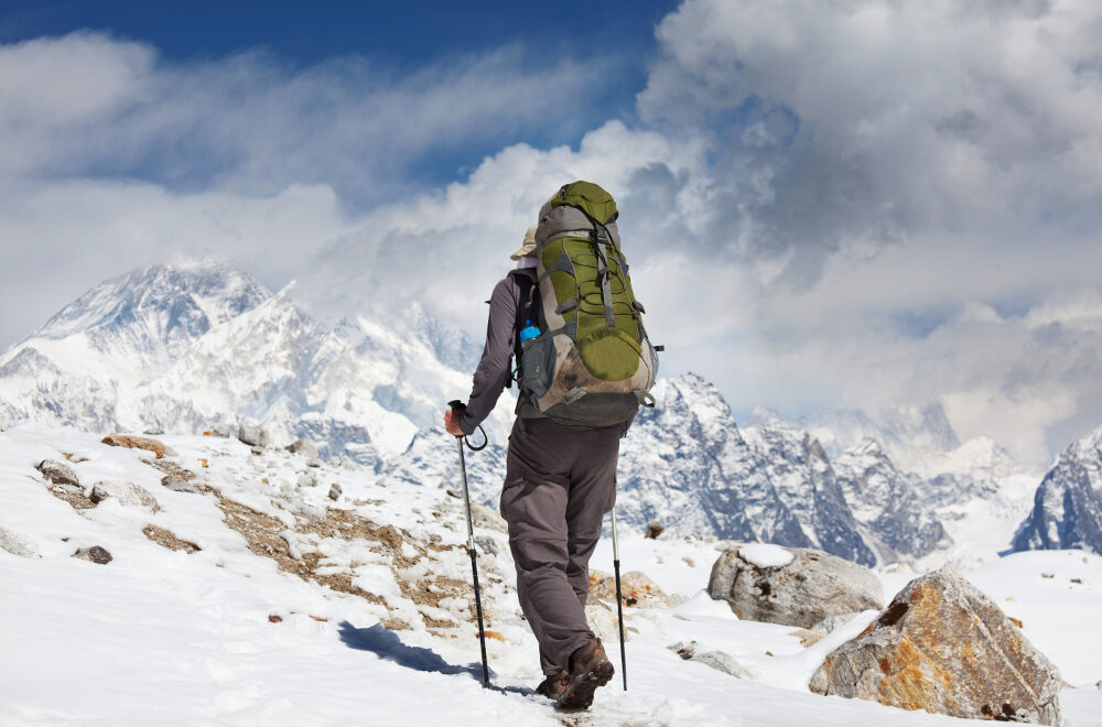
[[1102, 553], [1102, 427], [1068, 447], [1045, 475], [1013, 550]]

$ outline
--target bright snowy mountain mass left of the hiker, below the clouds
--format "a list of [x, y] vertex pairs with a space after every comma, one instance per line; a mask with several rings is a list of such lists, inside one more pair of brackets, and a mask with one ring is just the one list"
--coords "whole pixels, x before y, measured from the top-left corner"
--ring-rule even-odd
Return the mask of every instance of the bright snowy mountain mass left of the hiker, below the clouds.
[[419, 307], [393, 327], [327, 327], [228, 265], [155, 265], [96, 286], [0, 356], [0, 419], [196, 432], [249, 417], [276, 442], [306, 436], [378, 464], [467, 391], [449, 362], [476, 356]]

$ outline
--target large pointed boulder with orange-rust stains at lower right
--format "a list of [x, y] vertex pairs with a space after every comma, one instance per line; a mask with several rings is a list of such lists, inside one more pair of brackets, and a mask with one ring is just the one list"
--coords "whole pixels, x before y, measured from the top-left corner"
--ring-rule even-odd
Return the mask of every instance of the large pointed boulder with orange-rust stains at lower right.
[[911, 580], [811, 691], [966, 719], [1060, 724], [1060, 674], [951, 567]]

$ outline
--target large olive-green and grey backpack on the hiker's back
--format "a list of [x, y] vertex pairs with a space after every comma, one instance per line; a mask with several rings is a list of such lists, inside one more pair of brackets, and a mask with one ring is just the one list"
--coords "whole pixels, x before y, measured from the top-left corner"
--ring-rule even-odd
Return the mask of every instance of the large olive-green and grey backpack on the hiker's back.
[[531, 321], [540, 335], [519, 344], [519, 389], [563, 424], [611, 426], [655, 405], [660, 347], [642, 326], [617, 214], [590, 182], [564, 185], [540, 210], [536, 283], [518, 315], [518, 329]]

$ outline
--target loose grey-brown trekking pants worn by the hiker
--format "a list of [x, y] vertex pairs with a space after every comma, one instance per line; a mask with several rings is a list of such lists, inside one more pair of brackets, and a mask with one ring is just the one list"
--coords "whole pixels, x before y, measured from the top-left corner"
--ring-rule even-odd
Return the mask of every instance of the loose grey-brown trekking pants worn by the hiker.
[[623, 427], [520, 420], [509, 436], [501, 516], [517, 563], [520, 607], [540, 644], [543, 673], [569, 671], [594, 638], [585, 620], [590, 556], [616, 502]]

